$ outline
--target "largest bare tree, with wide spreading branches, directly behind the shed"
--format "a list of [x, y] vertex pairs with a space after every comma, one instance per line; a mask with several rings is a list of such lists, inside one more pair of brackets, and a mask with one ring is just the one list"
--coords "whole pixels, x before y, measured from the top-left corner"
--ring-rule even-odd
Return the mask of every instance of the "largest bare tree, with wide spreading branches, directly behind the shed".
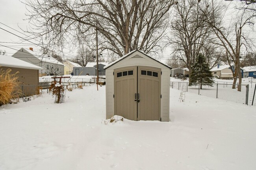
[[[134, 49], [158, 52], [175, 0], [26, 0], [29, 31], [48, 46], [78, 42], [79, 37], [102, 35], [103, 49], [119, 56]], [[95, 48], [94, 48], [95, 49]]]

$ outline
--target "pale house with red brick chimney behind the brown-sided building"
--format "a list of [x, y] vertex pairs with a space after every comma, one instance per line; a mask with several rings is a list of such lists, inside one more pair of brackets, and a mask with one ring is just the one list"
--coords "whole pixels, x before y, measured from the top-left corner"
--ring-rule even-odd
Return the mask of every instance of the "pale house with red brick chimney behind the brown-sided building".
[[39, 53], [35, 53], [33, 48], [20, 48], [16, 53], [12, 55], [12, 57], [43, 68], [39, 71], [39, 77], [45, 75], [64, 75], [64, 64], [55, 58], [42, 56]]

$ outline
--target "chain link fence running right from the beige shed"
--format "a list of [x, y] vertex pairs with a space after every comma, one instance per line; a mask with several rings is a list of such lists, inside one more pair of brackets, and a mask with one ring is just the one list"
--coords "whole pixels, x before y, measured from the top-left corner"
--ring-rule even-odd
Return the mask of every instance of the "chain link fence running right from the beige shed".
[[214, 83], [212, 86], [202, 85], [202, 89], [200, 88], [200, 83], [192, 84], [194, 85], [189, 86], [189, 82], [170, 82], [171, 88], [174, 89], [248, 105], [249, 84], [242, 85], [241, 91], [237, 91], [237, 84], [236, 89], [232, 89], [233, 84], [228, 84], [227, 82]]

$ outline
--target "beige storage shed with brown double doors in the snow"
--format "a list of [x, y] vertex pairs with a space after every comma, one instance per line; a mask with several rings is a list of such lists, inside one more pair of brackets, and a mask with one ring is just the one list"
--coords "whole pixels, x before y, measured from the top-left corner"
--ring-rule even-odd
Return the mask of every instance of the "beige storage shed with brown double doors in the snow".
[[169, 121], [169, 66], [134, 50], [104, 69], [107, 119]]

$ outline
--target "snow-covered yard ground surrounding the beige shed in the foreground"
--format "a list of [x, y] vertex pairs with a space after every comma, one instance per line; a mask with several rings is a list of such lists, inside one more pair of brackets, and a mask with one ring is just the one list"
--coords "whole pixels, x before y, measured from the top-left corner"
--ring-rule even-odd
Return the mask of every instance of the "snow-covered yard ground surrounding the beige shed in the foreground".
[[170, 89], [170, 122], [105, 125], [105, 86], [0, 107], [0, 170], [255, 170], [256, 107]]

